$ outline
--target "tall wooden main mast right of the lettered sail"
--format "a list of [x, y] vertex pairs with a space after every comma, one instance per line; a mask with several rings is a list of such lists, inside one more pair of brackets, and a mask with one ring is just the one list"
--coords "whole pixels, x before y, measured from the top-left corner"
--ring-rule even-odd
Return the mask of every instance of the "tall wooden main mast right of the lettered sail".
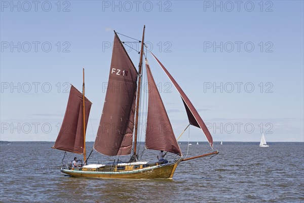
[[137, 125], [138, 125], [138, 110], [139, 110], [139, 100], [140, 100], [140, 84], [141, 84], [141, 70], [142, 70], [142, 55], [143, 55], [143, 40], [144, 40], [144, 29], [145, 25], [143, 25], [142, 31], [142, 40], [141, 40], [141, 49], [140, 49], [140, 59], [138, 64], [138, 87], [137, 87], [137, 98], [136, 98], [136, 116], [135, 116], [135, 132], [134, 132], [134, 158], [136, 158], [136, 148], [137, 148]]

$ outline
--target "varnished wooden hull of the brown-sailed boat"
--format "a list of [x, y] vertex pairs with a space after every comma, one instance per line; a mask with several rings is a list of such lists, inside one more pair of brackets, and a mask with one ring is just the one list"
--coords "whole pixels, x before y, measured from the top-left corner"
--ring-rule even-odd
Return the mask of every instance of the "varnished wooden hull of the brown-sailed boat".
[[75, 171], [61, 169], [62, 173], [76, 178], [95, 179], [171, 179], [180, 160], [172, 163], [123, 172]]

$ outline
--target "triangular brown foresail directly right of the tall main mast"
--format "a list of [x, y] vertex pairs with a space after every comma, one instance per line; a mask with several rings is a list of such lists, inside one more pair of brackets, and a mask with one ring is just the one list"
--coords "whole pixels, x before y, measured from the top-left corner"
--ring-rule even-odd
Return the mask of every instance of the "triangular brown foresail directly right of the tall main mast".
[[145, 145], [147, 149], [163, 150], [179, 154], [181, 151], [174, 136], [161, 95], [157, 89], [151, 74], [149, 64], [146, 60], [148, 78], [148, 115], [146, 126]]

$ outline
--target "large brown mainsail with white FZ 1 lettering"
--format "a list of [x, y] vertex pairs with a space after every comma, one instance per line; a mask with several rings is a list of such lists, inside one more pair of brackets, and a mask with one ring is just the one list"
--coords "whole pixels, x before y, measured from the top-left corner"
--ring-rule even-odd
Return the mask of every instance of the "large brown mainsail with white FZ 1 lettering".
[[117, 34], [94, 149], [108, 156], [131, 154], [137, 71]]

